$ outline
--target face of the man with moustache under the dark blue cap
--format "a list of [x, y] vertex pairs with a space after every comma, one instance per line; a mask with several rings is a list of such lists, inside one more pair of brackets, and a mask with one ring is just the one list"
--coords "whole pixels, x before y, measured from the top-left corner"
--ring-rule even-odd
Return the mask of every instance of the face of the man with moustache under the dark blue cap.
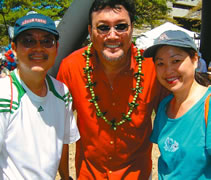
[[[27, 42], [36, 42], [33, 46]], [[46, 45], [46, 41], [54, 41], [52, 47]], [[21, 33], [17, 38], [17, 43], [12, 43], [14, 54], [18, 59], [18, 69], [21, 72], [44, 72], [54, 65], [57, 55], [57, 43], [53, 34], [32, 29]]]

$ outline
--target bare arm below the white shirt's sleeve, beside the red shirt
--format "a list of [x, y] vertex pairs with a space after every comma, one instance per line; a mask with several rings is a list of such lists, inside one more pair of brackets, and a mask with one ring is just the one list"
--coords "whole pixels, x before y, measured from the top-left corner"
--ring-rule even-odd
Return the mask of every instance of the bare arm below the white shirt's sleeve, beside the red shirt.
[[69, 180], [69, 147], [63, 145], [62, 156], [59, 164], [59, 174], [62, 180]]

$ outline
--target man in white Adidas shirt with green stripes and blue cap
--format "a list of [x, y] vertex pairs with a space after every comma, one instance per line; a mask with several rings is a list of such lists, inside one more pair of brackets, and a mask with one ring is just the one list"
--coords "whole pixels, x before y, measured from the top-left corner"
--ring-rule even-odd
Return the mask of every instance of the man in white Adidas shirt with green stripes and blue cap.
[[69, 179], [68, 144], [80, 136], [68, 88], [47, 75], [58, 39], [54, 21], [42, 14], [15, 23], [17, 68], [0, 78], [1, 180], [54, 180], [58, 168]]

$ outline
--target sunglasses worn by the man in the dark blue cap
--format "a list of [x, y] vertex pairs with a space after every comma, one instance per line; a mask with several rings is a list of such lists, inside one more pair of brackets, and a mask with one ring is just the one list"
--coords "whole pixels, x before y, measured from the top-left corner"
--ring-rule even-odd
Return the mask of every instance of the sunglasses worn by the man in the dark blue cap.
[[34, 48], [38, 41], [40, 42], [40, 46], [42, 48], [52, 48], [56, 41], [52, 38], [45, 38], [42, 40], [36, 40], [34, 38], [29, 38], [29, 37], [23, 37], [20, 39], [20, 43], [22, 44], [22, 46], [24, 46], [25, 48]]

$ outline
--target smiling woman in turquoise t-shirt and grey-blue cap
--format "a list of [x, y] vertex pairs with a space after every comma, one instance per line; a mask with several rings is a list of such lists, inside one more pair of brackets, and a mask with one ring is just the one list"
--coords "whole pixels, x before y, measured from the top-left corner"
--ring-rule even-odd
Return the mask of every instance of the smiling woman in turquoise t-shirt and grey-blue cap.
[[151, 135], [161, 153], [159, 179], [211, 179], [211, 108], [205, 108], [211, 87], [196, 72], [195, 43], [183, 31], [165, 31], [144, 57], [153, 57], [159, 82], [172, 92], [159, 105]]

